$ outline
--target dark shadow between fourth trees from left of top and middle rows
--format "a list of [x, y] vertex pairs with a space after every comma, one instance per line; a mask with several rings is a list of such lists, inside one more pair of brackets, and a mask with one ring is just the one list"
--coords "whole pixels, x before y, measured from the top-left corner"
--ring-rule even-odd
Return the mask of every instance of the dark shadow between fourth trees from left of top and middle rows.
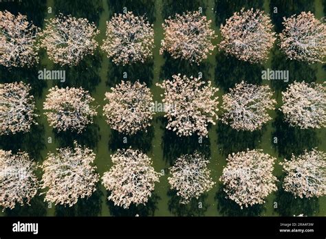
[[178, 73], [181, 73], [182, 76], [193, 76], [195, 78], [199, 77], [199, 73], [201, 73], [203, 80], [211, 78], [209, 70], [213, 65], [208, 60], [204, 60], [200, 65], [196, 63], [190, 64], [190, 62], [181, 58], [174, 59], [167, 52], [164, 52], [164, 58], [165, 62], [160, 71], [161, 80], [171, 79], [171, 76], [177, 75]]

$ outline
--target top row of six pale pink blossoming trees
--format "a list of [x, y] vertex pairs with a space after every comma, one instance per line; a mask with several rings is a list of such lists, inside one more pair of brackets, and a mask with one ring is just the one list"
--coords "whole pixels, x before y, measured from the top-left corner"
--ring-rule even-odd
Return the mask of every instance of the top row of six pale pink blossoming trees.
[[[38, 62], [39, 47], [47, 50], [51, 60], [60, 65], [76, 65], [98, 46], [99, 31], [87, 19], [59, 14], [45, 20], [45, 30], [27, 21], [26, 16], [0, 12], [0, 64], [6, 67], [29, 67]], [[199, 65], [213, 52], [211, 21], [199, 12], [184, 12], [169, 17], [162, 24], [164, 39], [160, 54], [169, 52]], [[287, 58], [308, 63], [324, 62], [326, 56], [326, 25], [311, 12], [284, 18], [279, 46]], [[235, 12], [221, 25], [219, 49], [239, 60], [261, 63], [268, 59], [276, 40], [270, 16], [261, 10]], [[40, 44], [36, 41], [40, 36]], [[133, 12], [114, 14], [107, 22], [106, 38], [100, 47], [117, 65], [144, 62], [153, 56], [153, 24], [145, 16]]]

